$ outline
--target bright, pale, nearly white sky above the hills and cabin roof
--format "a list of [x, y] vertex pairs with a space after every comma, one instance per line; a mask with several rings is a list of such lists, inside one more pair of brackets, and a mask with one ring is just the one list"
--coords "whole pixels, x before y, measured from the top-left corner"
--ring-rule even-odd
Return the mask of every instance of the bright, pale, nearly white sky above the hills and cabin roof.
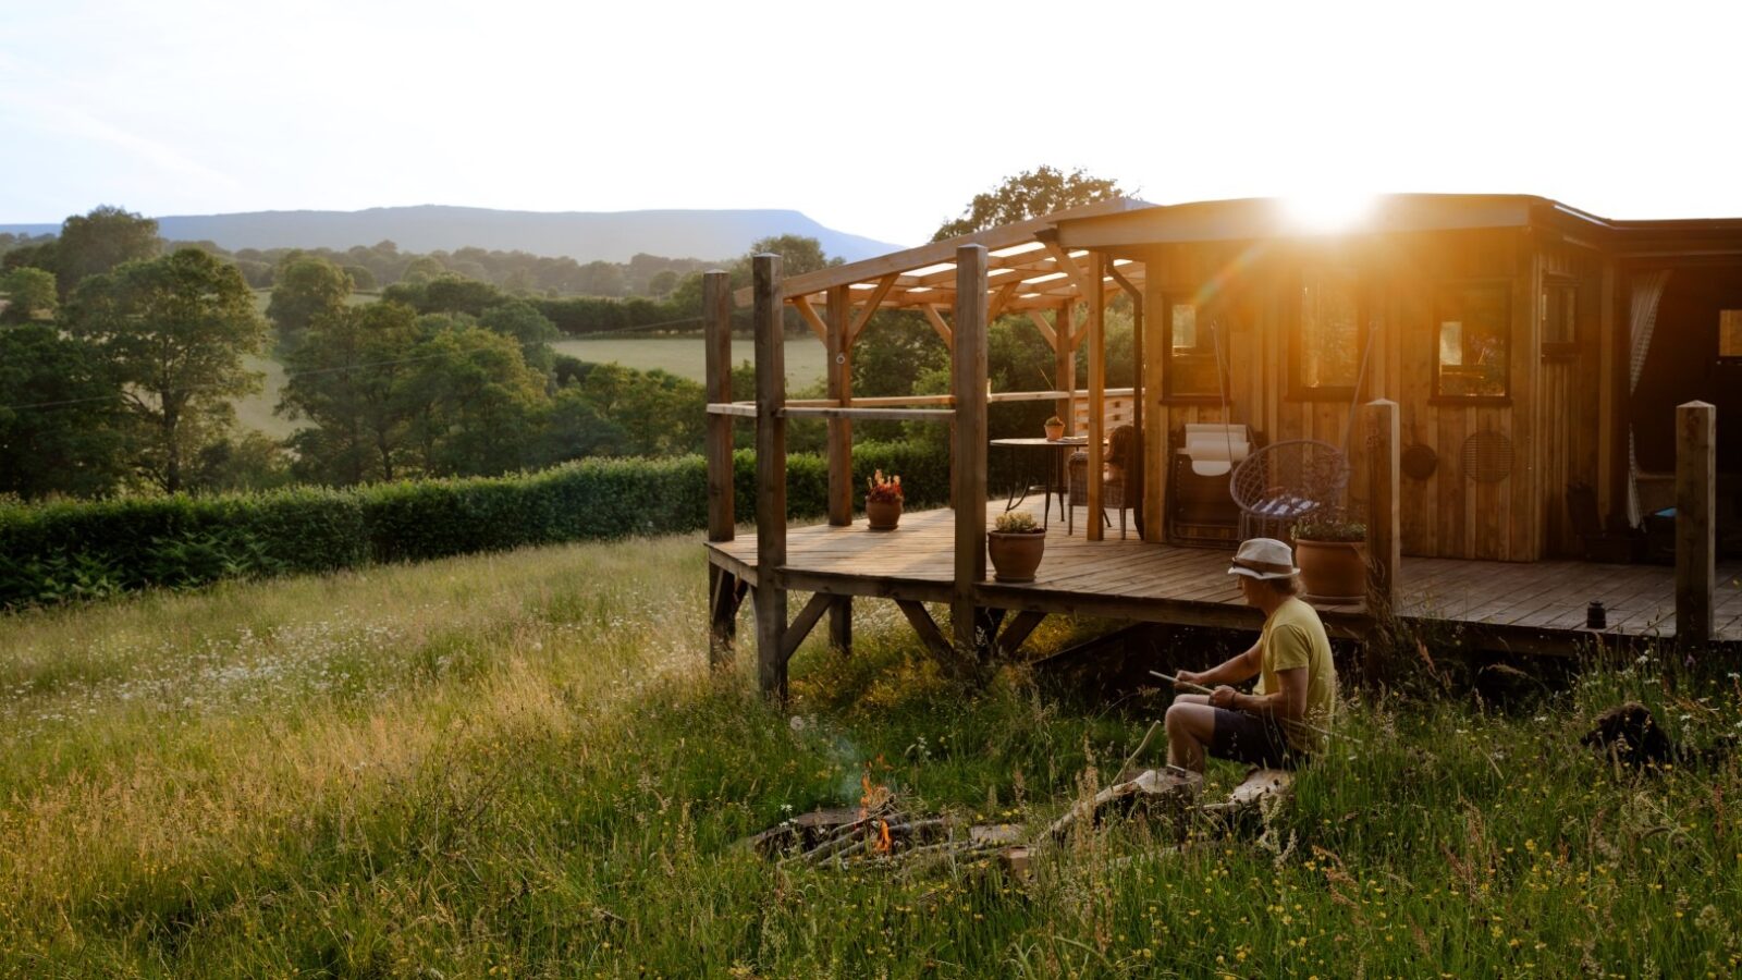
[[0, 223], [791, 208], [918, 244], [1042, 164], [1742, 216], [1739, 38], [1737, 2], [0, 0]]

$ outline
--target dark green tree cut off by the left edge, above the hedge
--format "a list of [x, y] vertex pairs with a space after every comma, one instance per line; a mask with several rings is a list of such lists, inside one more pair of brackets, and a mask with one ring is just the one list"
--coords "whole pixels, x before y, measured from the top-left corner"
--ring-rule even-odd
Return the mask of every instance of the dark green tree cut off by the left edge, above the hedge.
[[98, 497], [122, 480], [120, 385], [92, 345], [0, 330], [0, 493]]

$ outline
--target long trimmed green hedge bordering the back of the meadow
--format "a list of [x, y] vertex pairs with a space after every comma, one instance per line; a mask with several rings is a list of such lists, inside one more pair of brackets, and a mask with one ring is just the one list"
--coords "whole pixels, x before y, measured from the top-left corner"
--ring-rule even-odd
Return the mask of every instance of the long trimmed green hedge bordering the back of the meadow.
[[[855, 502], [874, 469], [899, 473], [913, 507], [949, 499], [949, 457], [937, 448], [854, 446]], [[789, 457], [786, 485], [791, 516], [826, 513], [820, 457]], [[733, 487], [739, 521], [753, 521], [749, 450], [733, 457]], [[589, 459], [521, 476], [352, 490], [12, 504], [0, 506], [0, 609], [704, 527], [702, 457]]]

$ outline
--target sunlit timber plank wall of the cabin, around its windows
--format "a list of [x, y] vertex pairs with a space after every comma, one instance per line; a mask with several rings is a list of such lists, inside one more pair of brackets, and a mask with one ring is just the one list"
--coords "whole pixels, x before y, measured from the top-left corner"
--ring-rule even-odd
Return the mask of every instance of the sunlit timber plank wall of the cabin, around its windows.
[[[1233, 422], [1251, 425], [1265, 443], [1322, 439], [1345, 443], [1350, 401], [1390, 398], [1401, 406], [1402, 443], [1437, 453], [1427, 480], [1404, 478], [1401, 487], [1402, 549], [1406, 555], [1533, 561], [1543, 555], [1549, 525], [1545, 495], [1564, 495], [1561, 476], [1596, 478], [1596, 438], [1568, 431], [1554, 434], [1556, 487], [1543, 478], [1540, 413], [1542, 354], [1538, 349], [1538, 295], [1545, 260], [1519, 230], [1441, 232], [1387, 235], [1355, 244], [1211, 242], [1157, 246], [1146, 255], [1150, 309], [1164, 298], [1197, 296], [1223, 324], [1228, 399]], [[1366, 380], [1354, 399], [1306, 399], [1289, 391], [1289, 357], [1298, 331], [1300, 269], [1320, 262], [1354, 269], [1364, 295], [1371, 330]], [[1554, 269], [1578, 265], [1577, 256], [1556, 255]], [[1578, 265], [1583, 270], [1582, 265]], [[1509, 398], [1472, 403], [1434, 398], [1439, 326], [1434, 296], [1442, 282], [1493, 281], [1509, 289], [1510, 337], [1507, 345]], [[1596, 288], [1596, 286], [1592, 286]], [[1594, 293], [1596, 295], [1596, 293]], [[1153, 316], [1151, 314], [1151, 316]], [[1200, 312], [1200, 317], [1204, 312]], [[1596, 330], [1582, 331], [1596, 342]], [[1150, 333], [1162, 354], [1160, 330]], [[1559, 413], [1597, 357], [1557, 368]], [[1594, 377], [1594, 375], [1592, 375]], [[1596, 391], [1592, 387], [1592, 391]], [[1169, 398], [1148, 392], [1148, 412], [1165, 434], [1188, 422], [1218, 422], [1218, 398]], [[1582, 396], [1578, 396], [1582, 398]], [[1578, 405], [1583, 405], [1578, 401]], [[1571, 425], [1571, 415], [1557, 415]], [[1510, 473], [1498, 481], [1475, 481], [1465, 473], [1465, 441], [1479, 432], [1507, 438]], [[1366, 432], [1359, 417], [1350, 431], [1350, 504], [1366, 506]], [[1587, 466], [1589, 464], [1589, 466]], [[1165, 476], [1165, 474], [1164, 474]], [[1559, 520], [1559, 518], [1557, 518]], [[1564, 521], [1563, 521], [1564, 523]], [[1554, 534], [1564, 539], [1557, 523]]]

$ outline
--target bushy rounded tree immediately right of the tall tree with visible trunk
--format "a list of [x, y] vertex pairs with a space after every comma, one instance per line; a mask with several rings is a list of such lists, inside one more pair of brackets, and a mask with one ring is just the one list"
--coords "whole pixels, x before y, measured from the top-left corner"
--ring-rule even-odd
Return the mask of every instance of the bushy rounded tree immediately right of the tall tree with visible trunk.
[[298, 476], [355, 485], [404, 474], [418, 415], [404, 389], [422, 338], [416, 312], [388, 302], [345, 307], [308, 326], [286, 363], [277, 408], [314, 422], [289, 439]]

